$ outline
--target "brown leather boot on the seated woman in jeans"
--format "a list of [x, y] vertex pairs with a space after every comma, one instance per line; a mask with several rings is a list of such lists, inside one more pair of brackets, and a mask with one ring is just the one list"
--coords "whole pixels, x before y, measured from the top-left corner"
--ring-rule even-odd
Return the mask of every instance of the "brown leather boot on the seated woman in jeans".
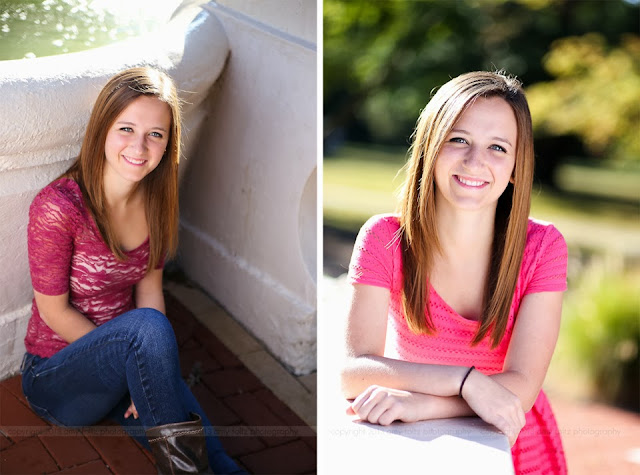
[[159, 474], [212, 473], [200, 416], [191, 420], [147, 429], [151, 453]]

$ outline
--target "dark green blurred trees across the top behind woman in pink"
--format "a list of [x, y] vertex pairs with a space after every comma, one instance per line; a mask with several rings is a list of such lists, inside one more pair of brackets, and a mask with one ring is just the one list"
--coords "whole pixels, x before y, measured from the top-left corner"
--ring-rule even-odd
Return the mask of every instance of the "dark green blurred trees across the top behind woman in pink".
[[[597, 32], [610, 79], [613, 74], [627, 74], [631, 69], [613, 63], [621, 51], [637, 55], [633, 38], [639, 31], [635, 0], [325, 0], [326, 150], [335, 137], [407, 144], [431, 91], [466, 71], [505, 69], [525, 85], [544, 82], [551, 89], [560, 87], [555, 82], [557, 69], [551, 66], [559, 60], [552, 54], [546, 61], [543, 58], [554, 41], [565, 37]], [[575, 70], [573, 84], [577, 75]], [[567, 84], [566, 76], [558, 79]], [[603, 89], [600, 96], [605, 94]], [[622, 102], [621, 98], [607, 117], [624, 109]], [[626, 104], [633, 109], [633, 104]], [[611, 105], [603, 101], [601, 107]], [[625, 117], [629, 123], [633, 120], [632, 113]], [[585, 133], [586, 126], [554, 128], [545, 118], [536, 124], [547, 136], [576, 135], [594, 151], [619, 146], [618, 136], [595, 137]], [[565, 142], [574, 152], [579, 150], [571, 135]], [[548, 148], [552, 153], [557, 149]]]

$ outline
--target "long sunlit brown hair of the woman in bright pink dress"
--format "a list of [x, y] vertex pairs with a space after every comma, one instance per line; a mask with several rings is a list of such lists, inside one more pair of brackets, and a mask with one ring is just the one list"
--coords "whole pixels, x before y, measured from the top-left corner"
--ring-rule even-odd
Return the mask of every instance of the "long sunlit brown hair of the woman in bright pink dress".
[[414, 333], [436, 330], [428, 305], [429, 273], [435, 253], [442, 252], [436, 232], [435, 162], [454, 124], [479, 97], [504, 99], [513, 109], [518, 127], [514, 183], [509, 183], [498, 199], [480, 326], [473, 340], [478, 344], [489, 333], [492, 347], [496, 347], [505, 333], [520, 271], [533, 181], [531, 114], [516, 78], [491, 72], [463, 74], [443, 85], [420, 114], [399, 205], [402, 303]]

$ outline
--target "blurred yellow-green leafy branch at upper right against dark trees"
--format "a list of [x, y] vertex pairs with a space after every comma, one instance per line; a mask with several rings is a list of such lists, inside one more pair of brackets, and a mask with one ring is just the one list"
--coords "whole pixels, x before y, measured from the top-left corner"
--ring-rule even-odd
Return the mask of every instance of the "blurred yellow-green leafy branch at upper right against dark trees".
[[640, 160], [640, 36], [613, 48], [595, 33], [563, 38], [544, 65], [555, 79], [527, 91], [539, 132], [578, 135], [595, 156]]

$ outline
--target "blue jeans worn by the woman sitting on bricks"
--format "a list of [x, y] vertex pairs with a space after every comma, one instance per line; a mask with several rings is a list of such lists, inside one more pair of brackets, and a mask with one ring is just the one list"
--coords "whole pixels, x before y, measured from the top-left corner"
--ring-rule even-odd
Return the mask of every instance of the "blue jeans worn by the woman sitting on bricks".
[[[27, 353], [22, 390], [34, 412], [52, 424], [88, 426], [110, 418], [146, 447], [143, 429], [184, 422], [195, 412], [205, 426], [213, 472], [242, 473], [182, 379], [173, 328], [157, 310], [120, 315], [51, 358]], [[138, 420], [124, 418], [131, 400]]]

